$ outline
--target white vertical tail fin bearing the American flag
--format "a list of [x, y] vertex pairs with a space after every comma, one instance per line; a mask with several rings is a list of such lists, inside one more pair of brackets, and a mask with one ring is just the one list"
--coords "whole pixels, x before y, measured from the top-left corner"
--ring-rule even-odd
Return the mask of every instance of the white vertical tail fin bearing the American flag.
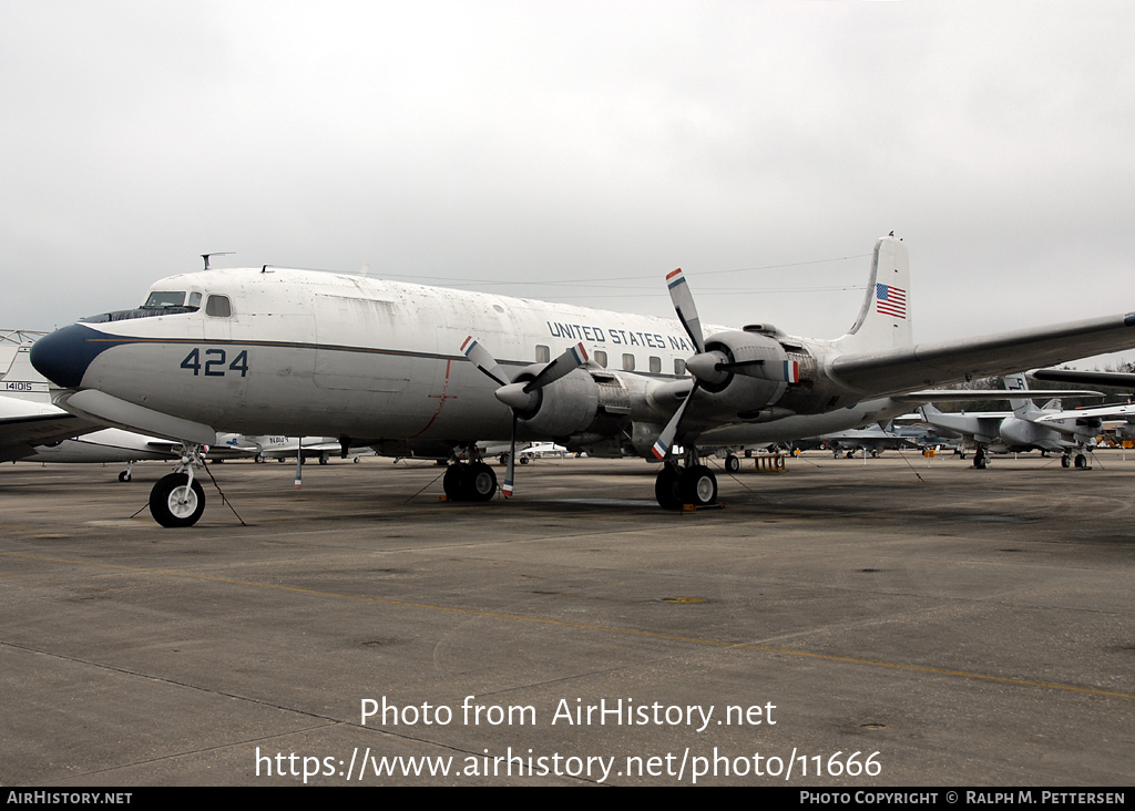
[[877, 352], [910, 346], [910, 260], [894, 236], [875, 243], [867, 295], [855, 324], [839, 339], [844, 352]]

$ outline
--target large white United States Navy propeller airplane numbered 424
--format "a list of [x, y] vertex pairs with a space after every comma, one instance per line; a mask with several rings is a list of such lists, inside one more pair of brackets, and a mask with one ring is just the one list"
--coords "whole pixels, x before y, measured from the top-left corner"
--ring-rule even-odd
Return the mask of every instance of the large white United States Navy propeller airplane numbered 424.
[[[716, 500], [699, 447], [855, 428], [935, 399], [927, 386], [1135, 346], [1135, 313], [916, 345], [893, 236], [876, 243], [859, 314], [834, 340], [770, 323], [703, 329], [682, 273], [669, 285], [678, 320], [269, 265], [204, 270], [41, 338], [32, 362], [68, 411], [185, 443], [150, 498], [159, 523], [185, 526], [204, 509], [193, 472], [217, 430], [446, 456], [446, 495], [469, 501], [497, 491], [478, 441], [554, 440], [661, 462], [656, 498], [676, 508]], [[513, 484], [510, 464], [505, 495]]]

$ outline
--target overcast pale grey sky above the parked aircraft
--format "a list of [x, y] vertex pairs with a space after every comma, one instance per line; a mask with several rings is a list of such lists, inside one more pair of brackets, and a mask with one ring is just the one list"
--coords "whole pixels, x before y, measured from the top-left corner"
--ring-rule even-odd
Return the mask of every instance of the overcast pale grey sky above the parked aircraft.
[[836, 337], [1135, 310], [1135, 3], [0, 0], [0, 327], [263, 263]]

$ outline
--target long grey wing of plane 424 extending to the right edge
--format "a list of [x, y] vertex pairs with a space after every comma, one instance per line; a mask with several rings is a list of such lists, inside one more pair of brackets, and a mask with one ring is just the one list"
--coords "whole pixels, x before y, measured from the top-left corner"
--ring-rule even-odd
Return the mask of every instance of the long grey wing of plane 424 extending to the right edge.
[[1070, 321], [1059, 327], [844, 355], [832, 362], [831, 371], [832, 377], [847, 386], [880, 397], [1119, 352], [1133, 344], [1135, 313], [1127, 313]]

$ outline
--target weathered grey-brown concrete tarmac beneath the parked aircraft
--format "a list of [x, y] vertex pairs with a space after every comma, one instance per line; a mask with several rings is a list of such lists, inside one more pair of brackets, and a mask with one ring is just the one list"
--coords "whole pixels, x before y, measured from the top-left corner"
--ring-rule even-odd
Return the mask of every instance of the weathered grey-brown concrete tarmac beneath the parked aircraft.
[[0, 783], [1130, 785], [1128, 456], [5, 465]]

